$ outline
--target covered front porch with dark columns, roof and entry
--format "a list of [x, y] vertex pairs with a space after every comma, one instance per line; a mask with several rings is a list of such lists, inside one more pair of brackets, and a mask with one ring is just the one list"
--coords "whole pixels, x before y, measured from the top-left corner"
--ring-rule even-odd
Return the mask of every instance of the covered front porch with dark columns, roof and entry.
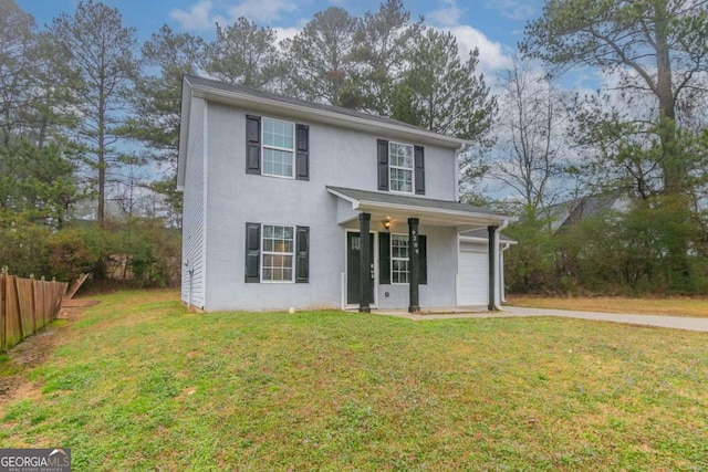
[[337, 223], [346, 233], [343, 308], [459, 310], [459, 234], [473, 230], [488, 235], [486, 310], [498, 308], [499, 231], [513, 218], [455, 201], [341, 187], [327, 191], [337, 197]]

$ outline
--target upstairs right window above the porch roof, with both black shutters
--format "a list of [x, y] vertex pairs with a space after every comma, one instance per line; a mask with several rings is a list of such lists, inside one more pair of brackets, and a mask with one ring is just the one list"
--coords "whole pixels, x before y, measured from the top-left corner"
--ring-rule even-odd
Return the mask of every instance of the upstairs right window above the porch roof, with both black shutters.
[[423, 146], [376, 141], [378, 190], [425, 195], [425, 149]]

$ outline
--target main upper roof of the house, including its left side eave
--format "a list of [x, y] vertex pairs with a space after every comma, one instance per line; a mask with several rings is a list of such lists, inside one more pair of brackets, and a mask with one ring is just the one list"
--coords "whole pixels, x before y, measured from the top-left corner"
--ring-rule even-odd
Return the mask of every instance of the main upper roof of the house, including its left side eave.
[[[409, 139], [419, 144], [430, 144], [451, 149], [461, 149], [471, 143], [439, 133], [423, 129], [407, 123], [382, 116], [369, 115], [354, 109], [305, 102], [285, 95], [264, 92], [243, 85], [228, 84], [211, 78], [186, 74], [183, 80], [181, 115], [189, 115], [191, 97], [212, 102], [232, 104], [260, 113], [283, 114], [311, 123], [337, 125], [350, 129], [358, 129], [393, 139]], [[187, 136], [189, 120], [181, 120], [179, 132], [179, 161], [177, 169], [177, 188], [184, 186], [185, 159], [187, 157]]]

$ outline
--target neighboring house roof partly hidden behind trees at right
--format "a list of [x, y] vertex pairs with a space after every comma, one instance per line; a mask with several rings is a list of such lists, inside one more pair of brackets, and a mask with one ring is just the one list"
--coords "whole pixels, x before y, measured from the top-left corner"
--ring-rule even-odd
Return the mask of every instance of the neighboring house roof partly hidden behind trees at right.
[[626, 197], [620, 190], [558, 203], [551, 207], [551, 229], [556, 232], [589, 218], [601, 217], [610, 210], [625, 210], [626, 206]]

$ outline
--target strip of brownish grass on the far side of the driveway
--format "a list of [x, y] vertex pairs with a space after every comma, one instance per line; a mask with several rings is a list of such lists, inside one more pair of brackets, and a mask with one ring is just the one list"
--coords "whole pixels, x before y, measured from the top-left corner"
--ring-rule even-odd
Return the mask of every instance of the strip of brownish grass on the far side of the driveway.
[[532, 308], [708, 317], [707, 297], [631, 298], [623, 296], [545, 297], [510, 295], [508, 300], [510, 305]]

